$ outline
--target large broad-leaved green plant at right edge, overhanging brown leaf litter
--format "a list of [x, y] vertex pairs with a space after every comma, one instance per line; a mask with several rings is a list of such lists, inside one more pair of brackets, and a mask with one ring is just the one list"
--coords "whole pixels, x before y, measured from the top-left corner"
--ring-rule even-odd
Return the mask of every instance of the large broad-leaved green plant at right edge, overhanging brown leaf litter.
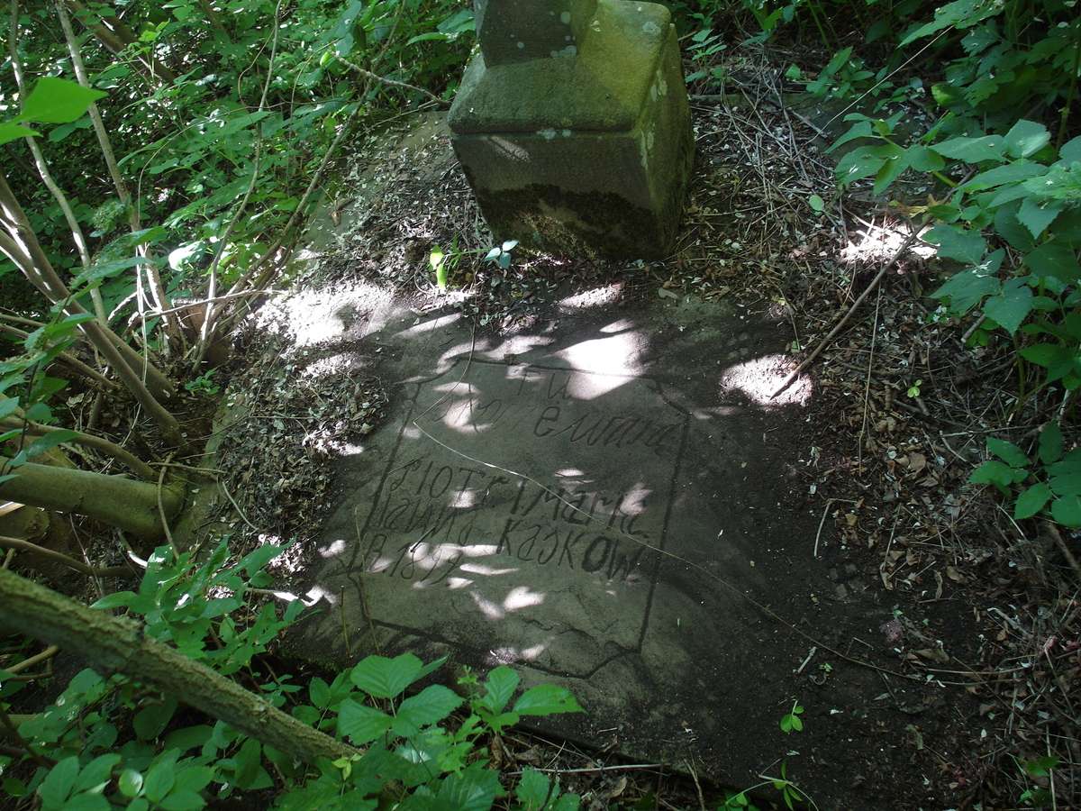
[[872, 143], [838, 162], [841, 185], [873, 177], [875, 192], [882, 194], [909, 169], [943, 184], [942, 200], [931, 196], [906, 210], [935, 224], [925, 239], [938, 247], [939, 258], [962, 268], [932, 293], [944, 302], [944, 315], [978, 309], [975, 344], [1005, 333], [1020, 358], [1043, 369], [1040, 387], [1077, 388], [1081, 137], [1055, 149], [1043, 124], [1022, 119], [1005, 135], [970, 130], [935, 143], [936, 128], [902, 146], [894, 135], [899, 118], [848, 116], [852, 128], [830, 149], [857, 138]]

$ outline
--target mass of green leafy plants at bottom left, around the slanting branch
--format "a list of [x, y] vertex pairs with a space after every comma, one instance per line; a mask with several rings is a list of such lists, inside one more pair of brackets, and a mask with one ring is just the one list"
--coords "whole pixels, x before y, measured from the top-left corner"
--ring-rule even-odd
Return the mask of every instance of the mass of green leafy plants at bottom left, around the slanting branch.
[[[231, 562], [225, 542], [204, 562], [160, 547], [134, 591], [95, 608], [126, 609], [143, 633], [186, 656], [251, 686], [273, 707], [315, 730], [356, 746], [356, 755], [311, 767], [242, 734], [224, 721], [178, 706], [176, 696], [121, 674], [84, 669], [50, 706], [10, 715], [27, 682], [0, 670], [0, 713], [17, 728], [22, 757], [0, 755], [0, 797], [38, 803], [42, 811], [196, 811], [214, 801], [271, 790], [273, 807], [320, 809], [473, 809], [505, 795], [489, 768], [483, 742], [525, 716], [578, 713], [564, 688], [542, 684], [513, 703], [519, 677], [497, 667], [482, 681], [467, 673], [458, 694], [430, 684], [406, 690], [436, 673], [445, 657], [424, 664], [412, 653], [372, 655], [332, 681], [306, 684], [267, 664], [264, 654], [303, 610], [257, 607], [252, 588], [271, 585], [264, 567], [282, 547], [263, 546]], [[271, 776], [273, 774], [273, 776]], [[574, 811], [579, 798], [558, 781], [526, 769], [512, 808]], [[267, 794], [253, 802], [267, 807]]]

